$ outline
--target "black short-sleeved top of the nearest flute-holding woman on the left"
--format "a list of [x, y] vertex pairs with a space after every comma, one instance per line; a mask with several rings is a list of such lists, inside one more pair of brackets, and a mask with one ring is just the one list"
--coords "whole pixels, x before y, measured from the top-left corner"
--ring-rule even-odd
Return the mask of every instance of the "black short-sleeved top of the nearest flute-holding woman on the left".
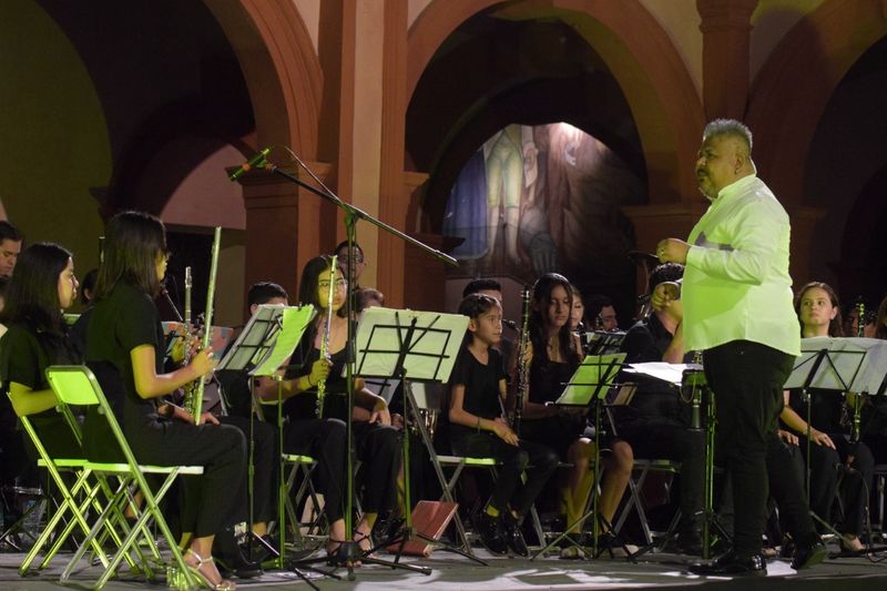
[[154, 347], [155, 370], [162, 374], [163, 327], [157, 308], [141, 289], [118, 283], [90, 313], [85, 360], [124, 431], [157, 419], [154, 401], [143, 399], [135, 390], [130, 351], [141, 345]]

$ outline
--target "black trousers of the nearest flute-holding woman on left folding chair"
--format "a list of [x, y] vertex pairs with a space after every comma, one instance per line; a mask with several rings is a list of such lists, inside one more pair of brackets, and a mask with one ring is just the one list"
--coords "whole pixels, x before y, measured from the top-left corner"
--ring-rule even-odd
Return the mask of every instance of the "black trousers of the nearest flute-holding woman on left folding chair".
[[203, 476], [184, 478], [187, 509], [182, 530], [215, 536], [243, 521], [246, 507], [246, 439], [230, 425], [152, 421], [128, 425], [135, 459], [156, 466], [203, 466]]

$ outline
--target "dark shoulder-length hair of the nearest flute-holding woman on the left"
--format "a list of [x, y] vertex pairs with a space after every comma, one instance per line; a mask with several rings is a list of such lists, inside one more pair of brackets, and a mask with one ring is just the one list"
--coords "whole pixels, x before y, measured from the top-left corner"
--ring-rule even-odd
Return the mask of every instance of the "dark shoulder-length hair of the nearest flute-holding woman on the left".
[[166, 252], [163, 222], [144, 212], [122, 212], [104, 231], [104, 259], [95, 279], [94, 302], [108, 297], [119, 282], [151, 297], [160, 295], [157, 256]]

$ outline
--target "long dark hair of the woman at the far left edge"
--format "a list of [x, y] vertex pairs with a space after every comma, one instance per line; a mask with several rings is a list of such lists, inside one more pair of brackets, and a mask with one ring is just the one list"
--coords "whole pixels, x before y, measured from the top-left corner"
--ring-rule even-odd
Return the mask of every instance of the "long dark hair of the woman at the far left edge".
[[59, 275], [71, 252], [50, 242], [32, 244], [19, 255], [9, 281], [3, 324], [22, 324], [34, 334], [63, 336], [67, 326], [59, 302]]

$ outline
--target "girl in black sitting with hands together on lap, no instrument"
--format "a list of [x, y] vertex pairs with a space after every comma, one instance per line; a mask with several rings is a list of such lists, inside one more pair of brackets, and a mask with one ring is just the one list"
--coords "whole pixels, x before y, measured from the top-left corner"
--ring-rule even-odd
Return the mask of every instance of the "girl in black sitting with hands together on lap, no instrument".
[[[558, 455], [546, 446], [518, 438], [503, 416], [506, 371], [492, 348], [502, 337], [502, 307], [482, 294], [471, 294], [459, 306], [468, 316], [468, 333], [450, 378], [450, 439], [460, 456], [495, 458], [501, 462], [489, 502], [475, 528], [493, 553], [529, 556], [520, 522], [558, 468]], [[521, 475], [527, 471], [527, 481]]]

